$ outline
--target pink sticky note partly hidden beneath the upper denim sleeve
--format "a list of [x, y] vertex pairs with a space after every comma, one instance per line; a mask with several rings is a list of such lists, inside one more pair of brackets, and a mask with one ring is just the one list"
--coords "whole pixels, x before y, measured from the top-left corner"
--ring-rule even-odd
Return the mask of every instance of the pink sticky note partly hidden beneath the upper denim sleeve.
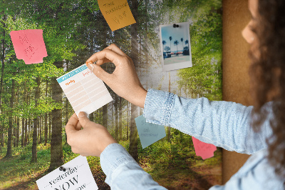
[[199, 141], [193, 136], [192, 136], [192, 141], [196, 152], [196, 156], [201, 156], [202, 159], [209, 159], [212, 156], [214, 156], [214, 151], [217, 150], [216, 146]]

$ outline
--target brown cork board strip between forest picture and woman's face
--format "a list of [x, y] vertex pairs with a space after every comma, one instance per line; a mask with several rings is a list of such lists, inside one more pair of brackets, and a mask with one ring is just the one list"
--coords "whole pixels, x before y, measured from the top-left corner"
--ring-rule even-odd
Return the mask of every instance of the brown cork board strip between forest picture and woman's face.
[[[223, 99], [249, 106], [249, 44], [242, 29], [250, 20], [247, 0], [223, 1]], [[249, 156], [223, 150], [222, 181], [226, 183]]]

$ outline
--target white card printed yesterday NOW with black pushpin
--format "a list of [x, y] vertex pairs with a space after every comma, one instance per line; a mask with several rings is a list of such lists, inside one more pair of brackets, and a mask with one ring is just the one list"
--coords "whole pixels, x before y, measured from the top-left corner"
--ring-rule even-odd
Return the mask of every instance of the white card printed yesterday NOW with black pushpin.
[[98, 189], [84, 156], [78, 156], [63, 165], [66, 171], [59, 168], [36, 181], [39, 190], [81, 190]]

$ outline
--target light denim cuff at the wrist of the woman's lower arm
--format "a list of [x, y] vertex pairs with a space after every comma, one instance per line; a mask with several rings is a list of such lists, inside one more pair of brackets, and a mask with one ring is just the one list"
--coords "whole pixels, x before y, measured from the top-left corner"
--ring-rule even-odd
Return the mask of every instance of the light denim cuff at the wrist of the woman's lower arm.
[[122, 145], [117, 143], [109, 144], [100, 154], [100, 165], [107, 176], [105, 182], [110, 185], [115, 169], [129, 162], [137, 163]]

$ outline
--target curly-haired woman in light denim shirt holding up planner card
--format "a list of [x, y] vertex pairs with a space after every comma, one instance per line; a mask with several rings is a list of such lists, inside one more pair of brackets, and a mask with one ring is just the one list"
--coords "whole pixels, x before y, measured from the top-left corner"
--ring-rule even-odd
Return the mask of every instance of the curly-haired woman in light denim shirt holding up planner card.
[[[249, 0], [252, 20], [242, 35], [251, 44], [254, 107], [205, 98], [183, 99], [154, 89], [145, 91], [133, 61], [113, 44], [93, 54], [86, 64], [116, 94], [144, 108], [147, 121], [171, 126], [229, 151], [253, 154], [227, 184], [211, 189], [284, 189], [284, 10], [284, 0]], [[96, 64], [92, 64], [94, 61]], [[113, 74], [100, 68], [110, 61], [116, 66]], [[73, 114], [66, 134], [74, 153], [100, 156], [112, 189], [164, 189], [123, 146], [116, 144], [105, 127], [89, 121], [83, 112], [78, 118]]]

